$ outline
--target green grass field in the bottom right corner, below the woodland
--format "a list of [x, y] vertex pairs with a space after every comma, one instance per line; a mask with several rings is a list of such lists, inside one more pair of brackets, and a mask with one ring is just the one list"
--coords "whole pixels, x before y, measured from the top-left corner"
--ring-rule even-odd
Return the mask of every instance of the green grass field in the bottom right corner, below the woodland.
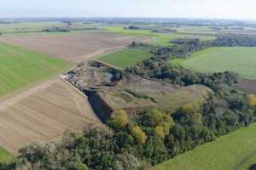
[[[165, 161], [154, 170], [247, 170], [256, 163], [256, 123]], [[252, 156], [251, 156], [252, 155]], [[245, 160], [246, 163], [243, 163]]]

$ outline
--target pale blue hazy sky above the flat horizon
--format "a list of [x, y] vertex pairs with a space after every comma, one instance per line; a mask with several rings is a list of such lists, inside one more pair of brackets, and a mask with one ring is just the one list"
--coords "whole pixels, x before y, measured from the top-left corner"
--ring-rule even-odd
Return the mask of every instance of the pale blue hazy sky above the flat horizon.
[[153, 17], [256, 20], [255, 0], [3, 0], [6, 17]]

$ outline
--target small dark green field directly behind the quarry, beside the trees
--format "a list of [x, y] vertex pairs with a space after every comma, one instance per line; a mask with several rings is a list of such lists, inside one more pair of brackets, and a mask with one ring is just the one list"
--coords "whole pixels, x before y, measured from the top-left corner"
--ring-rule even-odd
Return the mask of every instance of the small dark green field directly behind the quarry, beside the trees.
[[120, 68], [129, 65], [136, 65], [137, 62], [150, 58], [151, 54], [144, 48], [127, 48], [113, 54], [107, 54], [99, 58], [99, 60]]

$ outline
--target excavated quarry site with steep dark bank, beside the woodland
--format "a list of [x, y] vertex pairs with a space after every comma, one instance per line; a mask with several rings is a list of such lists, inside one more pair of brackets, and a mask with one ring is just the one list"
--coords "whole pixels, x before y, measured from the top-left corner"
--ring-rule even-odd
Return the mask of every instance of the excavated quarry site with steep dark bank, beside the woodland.
[[121, 79], [114, 81], [111, 69], [95, 62], [79, 65], [69, 72], [67, 80], [88, 95], [90, 104], [103, 122], [119, 109], [128, 113], [149, 108], [175, 112], [187, 103], [201, 105], [212, 94], [211, 89], [202, 85], [181, 88], [129, 73], [121, 74]]

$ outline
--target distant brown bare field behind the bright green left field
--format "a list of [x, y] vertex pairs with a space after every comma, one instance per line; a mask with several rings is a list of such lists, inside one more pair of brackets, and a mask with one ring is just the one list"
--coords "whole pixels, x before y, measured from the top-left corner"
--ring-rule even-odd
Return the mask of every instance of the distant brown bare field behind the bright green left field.
[[92, 56], [108, 54], [124, 48], [132, 41], [148, 41], [148, 37], [134, 37], [100, 31], [73, 32], [67, 34], [28, 34], [20, 37], [1, 37], [0, 42], [30, 48], [42, 54], [79, 62]]

